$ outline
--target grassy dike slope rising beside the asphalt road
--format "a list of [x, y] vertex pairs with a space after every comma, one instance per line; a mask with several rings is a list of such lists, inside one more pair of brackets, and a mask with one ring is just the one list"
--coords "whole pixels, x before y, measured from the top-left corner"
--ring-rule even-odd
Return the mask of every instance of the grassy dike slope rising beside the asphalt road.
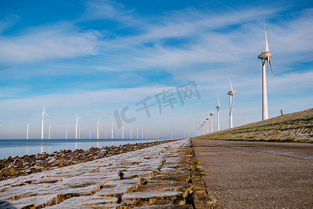
[[285, 114], [196, 138], [313, 143], [313, 109]]

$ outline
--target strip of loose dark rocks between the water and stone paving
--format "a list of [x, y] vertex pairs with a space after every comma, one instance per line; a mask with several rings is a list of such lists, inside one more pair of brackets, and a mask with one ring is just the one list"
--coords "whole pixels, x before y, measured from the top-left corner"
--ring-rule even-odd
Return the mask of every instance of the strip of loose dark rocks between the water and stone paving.
[[66, 167], [82, 162], [97, 160], [129, 151], [140, 150], [173, 140], [153, 141], [140, 144], [125, 144], [120, 146], [105, 146], [103, 148], [90, 148], [88, 150], [61, 150], [51, 154], [38, 153], [37, 155], [24, 155], [23, 157], [8, 157], [0, 160], [0, 180], [26, 176], [31, 173], [48, 171], [59, 167]]

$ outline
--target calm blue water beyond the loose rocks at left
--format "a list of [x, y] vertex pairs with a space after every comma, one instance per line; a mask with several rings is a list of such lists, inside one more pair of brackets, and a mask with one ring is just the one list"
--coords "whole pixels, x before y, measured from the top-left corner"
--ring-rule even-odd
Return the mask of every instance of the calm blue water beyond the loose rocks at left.
[[9, 156], [35, 155], [53, 153], [59, 150], [89, 149], [92, 147], [119, 146], [166, 139], [0, 139], [0, 159]]

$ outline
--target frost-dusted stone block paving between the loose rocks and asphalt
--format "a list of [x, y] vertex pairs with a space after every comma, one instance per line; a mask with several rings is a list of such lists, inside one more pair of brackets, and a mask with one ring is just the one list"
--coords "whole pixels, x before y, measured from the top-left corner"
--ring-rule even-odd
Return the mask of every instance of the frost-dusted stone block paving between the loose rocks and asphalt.
[[193, 208], [189, 145], [174, 141], [3, 180], [0, 208]]

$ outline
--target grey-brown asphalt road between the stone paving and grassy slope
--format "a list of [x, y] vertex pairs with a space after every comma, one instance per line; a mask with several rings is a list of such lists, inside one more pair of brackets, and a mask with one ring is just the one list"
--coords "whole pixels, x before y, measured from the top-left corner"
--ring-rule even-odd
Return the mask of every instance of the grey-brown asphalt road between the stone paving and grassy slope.
[[218, 208], [313, 208], [313, 144], [192, 142]]

